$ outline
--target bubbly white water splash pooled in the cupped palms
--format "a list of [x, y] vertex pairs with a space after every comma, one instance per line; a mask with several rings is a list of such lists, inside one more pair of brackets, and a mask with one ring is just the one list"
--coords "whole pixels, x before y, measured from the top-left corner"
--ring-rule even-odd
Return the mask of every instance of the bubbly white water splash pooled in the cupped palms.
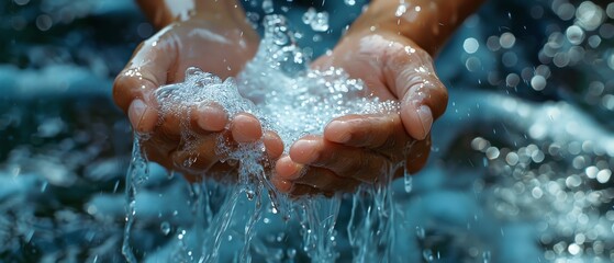
[[161, 87], [156, 96], [163, 116], [180, 119], [191, 108], [217, 103], [234, 116], [247, 112], [265, 129], [275, 130], [286, 148], [306, 134], [322, 134], [335, 117], [399, 111], [397, 102], [381, 102], [364, 82], [338, 68], [312, 70], [302, 50], [293, 44], [283, 20], [268, 16], [265, 39], [258, 54], [237, 79], [190, 68], [186, 81]]

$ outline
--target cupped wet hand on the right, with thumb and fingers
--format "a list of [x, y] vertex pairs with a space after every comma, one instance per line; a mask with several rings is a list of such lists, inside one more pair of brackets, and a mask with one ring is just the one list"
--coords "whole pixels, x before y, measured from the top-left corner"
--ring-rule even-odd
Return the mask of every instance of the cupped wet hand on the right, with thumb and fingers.
[[401, 161], [410, 173], [425, 164], [431, 126], [448, 99], [426, 52], [395, 33], [351, 32], [314, 67], [345, 69], [382, 101], [399, 101], [401, 111], [343, 116], [332, 121], [323, 136], [298, 140], [289, 156], [277, 161], [273, 184], [280, 191], [292, 195], [351, 191], [381, 174], [401, 175], [397, 165]]

